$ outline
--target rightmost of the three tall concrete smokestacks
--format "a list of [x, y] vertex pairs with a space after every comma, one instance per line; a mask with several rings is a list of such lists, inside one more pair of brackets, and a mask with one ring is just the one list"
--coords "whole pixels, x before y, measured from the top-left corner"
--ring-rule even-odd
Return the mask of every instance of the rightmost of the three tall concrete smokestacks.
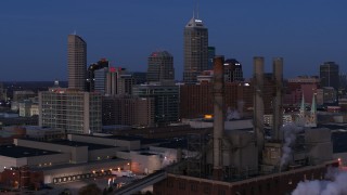
[[283, 125], [283, 105], [282, 105], [282, 90], [283, 90], [283, 58], [273, 58], [273, 81], [275, 86], [275, 96], [273, 99], [273, 126], [272, 140], [281, 141], [281, 127]]

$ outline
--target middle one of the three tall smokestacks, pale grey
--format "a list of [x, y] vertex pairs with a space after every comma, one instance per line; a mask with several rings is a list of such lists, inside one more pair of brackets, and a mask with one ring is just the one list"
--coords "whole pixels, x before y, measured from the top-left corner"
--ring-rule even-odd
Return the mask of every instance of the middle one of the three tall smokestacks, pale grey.
[[264, 57], [256, 56], [254, 63], [254, 130], [259, 159], [264, 148]]

